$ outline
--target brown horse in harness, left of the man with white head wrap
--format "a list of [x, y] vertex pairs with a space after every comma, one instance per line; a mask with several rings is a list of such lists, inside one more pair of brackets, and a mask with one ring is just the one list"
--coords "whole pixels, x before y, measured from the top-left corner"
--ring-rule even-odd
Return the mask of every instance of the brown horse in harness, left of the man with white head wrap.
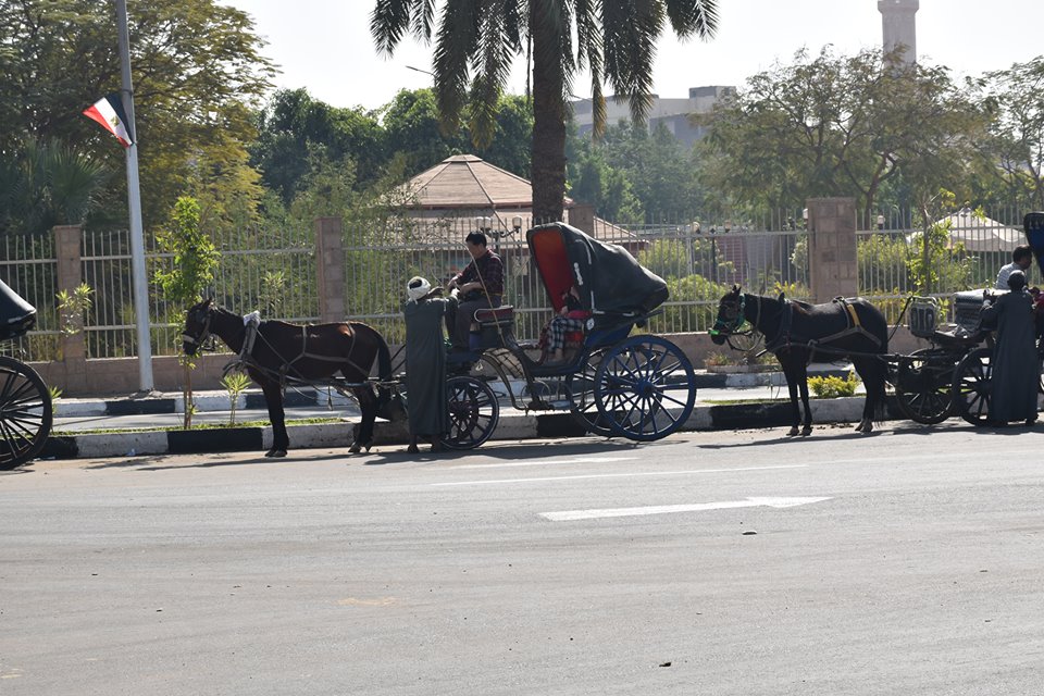
[[[347, 381], [362, 411], [362, 421], [349, 451], [370, 451], [373, 424], [378, 411], [391, 401], [387, 387], [375, 394], [366, 382], [373, 363], [378, 377], [391, 374], [388, 345], [374, 328], [359, 322], [302, 326], [281, 321], [264, 321], [250, 338], [243, 316], [215, 307], [210, 299], [188, 310], [185, 320], [185, 355], [195, 356], [210, 336], [216, 336], [244, 360], [247, 374], [264, 393], [272, 423], [272, 449], [265, 457], [286, 457], [290, 439], [286, 434], [283, 388], [289, 384], [330, 384], [337, 372]], [[250, 341], [244, 351], [244, 345]], [[327, 381], [327, 382], [323, 382]]]

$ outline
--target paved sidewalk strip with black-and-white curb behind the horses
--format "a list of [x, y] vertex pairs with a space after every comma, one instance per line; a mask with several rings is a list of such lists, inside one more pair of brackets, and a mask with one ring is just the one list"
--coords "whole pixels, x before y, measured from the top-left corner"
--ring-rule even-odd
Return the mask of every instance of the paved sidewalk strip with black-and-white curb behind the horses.
[[[847, 374], [844, 366], [823, 365], [818, 373]], [[512, 385], [519, 389], [521, 385]], [[497, 388], [495, 386], [495, 388]], [[504, 390], [499, 385], [498, 391]], [[231, 422], [229, 397], [224, 391], [195, 394], [195, 424]], [[812, 401], [817, 423], [856, 422], [862, 411], [862, 396]], [[352, 399], [325, 390], [287, 390], [286, 419], [294, 449], [345, 447], [351, 425], [359, 419]], [[51, 438], [41, 458], [121, 457], [175, 452], [263, 451], [271, 446], [272, 428], [234, 430], [181, 428], [184, 403], [181, 393], [98, 399], [59, 399]], [[891, 413], [888, 415], [892, 418]], [[294, 425], [295, 420], [339, 419], [339, 422]], [[260, 390], [240, 395], [237, 423], [268, 421]], [[780, 373], [708, 374], [697, 372], [696, 407], [683, 430], [736, 430], [790, 425], [785, 382]], [[99, 433], [97, 431], [108, 431]], [[95, 431], [95, 432], [91, 432]], [[141, 431], [141, 432], [139, 432]], [[586, 433], [568, 411], [530, 412], [514, 409], [510, 399], [500, 399], [500, 420], [494, 439], [583, 436]], [[377, 422], [375, 446], [406, 442], [402, 424]]]

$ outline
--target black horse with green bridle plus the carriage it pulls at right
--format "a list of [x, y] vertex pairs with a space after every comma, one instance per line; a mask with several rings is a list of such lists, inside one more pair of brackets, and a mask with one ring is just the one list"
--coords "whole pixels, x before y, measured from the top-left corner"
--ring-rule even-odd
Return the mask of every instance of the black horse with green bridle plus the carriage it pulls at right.
[[[1044, 273], [1044, 213], [1029, 213], [1024, 228]], [[722, 298], [711, 334], [719, 341], [756, 331], [766, 336], [767, 350], [776, 355], [787, 377], [794, 413], [792, 435], [798, 433], [800, 418], [798, 386], [805, 406], [804, 434], [811, 427], [807, 364], [842, 358], [852, 360], [867, 386], [863, 419], [857, 430], [872, 430], [873, 414], [884, 403], [885, 382], [893, 385], [899, 409], [918, 423], [931, 425], [960, 415], [972, 425], [985, 425], [991, 422], [994, 344], [992, 327], [983, 325], [981, 314], [984, 304], [1003, 293], [1006, 290], [992, 288], [955, 293], [955, 323], [943, 330], [939, 328], [937, 299], [909, 298], [903, 314], [909, 311], [910, 333], [928, 340], [930, 347], [908, 355], [887, 352], [895, 328], [886, 334], [884, 316], [861, 298], [837, 298], [812, 306], [782, 296], [774, 299], [743, 294], [736, 287]], [[1039, 347], [1039, 355], [1041, 348], [1044, 346]], [[1044, 393], [1044, 376], [1040, 382]]]

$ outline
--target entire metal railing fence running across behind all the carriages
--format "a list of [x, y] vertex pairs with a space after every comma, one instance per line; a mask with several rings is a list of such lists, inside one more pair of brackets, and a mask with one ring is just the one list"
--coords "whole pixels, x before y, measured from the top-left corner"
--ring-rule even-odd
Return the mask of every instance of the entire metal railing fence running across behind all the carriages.
[[[960, 289], [991, 286], [997, 270], [1022, 244], [1021, 212], [1000, 210], [990, 220], [959, 213], [949, 221], [949, 241], [936, 263], [932, 295], [947, 298]], [[896, 321], [905, 298], [913, 291], [910, 262], [921, 231], [908, 212], [860, 222], [857, 232], [858, 291]], [[705, 220], [684, 224], [611, 225], [598, 221], [595, 236], [626, 248], [667, 281], [670, 299], [648, 331], [706, 331], [713, 323], [719, 298], [734, 283], [753, 291], [785, 290], [794, 299], [810, 299], [807, 239], [800, 209], [775, 211], [759, 221]], [[401, 303], [413, 275], [444, 282], [470, 261], [463, 237], [474, 221], [446, 222], [427, 234], [403, 236], [387, 231], [344, 231], [346, 307], [351, 319], [373, 324], [389, 341], [405, 337]], [[408, 238], [407, 238], [408, 237]], [[391, 241], [387, 241], [390, 239]], [[434, 239], [442, 239], [435, 241]], [[452, 241], [446, 241], [450, 239]], [[384, 240], [384, 241], [375, 241]], [[314, 231], [244, 228], [215, 236], [221, 261], [211, 294], [221, 304], [243, 313], [261, 310], [265, 318], [316, 321], [320, 298], [315, 270]], [[517, 335], [536, 338], [550, 318], [550, 304], [525, 244], [525, 234], [492, 236], [490, 246], [504, 258], [505, 301], [517, 308]], [[148, 277], [173, 259], [146, 239]], [[126, 232], [83, 233], [83, 276], [92, 289], [85, 318], [89, 358], [136, 355], [130, 244]], [[28, 360], [59, 357], [61, 333], [57, 311], [57, 268], [51, 235], [0, 238], [0, 277], [37, 308], [37, 327], [3, 351]], [[1036, 269], [1030, 282], [1040, 284]], [[181, 312], [170, 307], [159, 288], [149, 291], [153, 355], [173, 355], [179, 347]]]

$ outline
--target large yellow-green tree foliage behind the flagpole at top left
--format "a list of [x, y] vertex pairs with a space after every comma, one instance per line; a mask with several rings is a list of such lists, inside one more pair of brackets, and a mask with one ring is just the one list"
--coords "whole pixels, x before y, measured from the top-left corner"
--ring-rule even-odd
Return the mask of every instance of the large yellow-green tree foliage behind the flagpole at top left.
[[[215, 217], [249, 214], [260, 196], [247, 164], [249, 107], [273, 74], [251, 21], [214, 0], [134, 3], [128, 20], [146, 227], [161, 222], [183, 191]], [[26, 137], [58, 139], [122, 170], [122, 149], [80, 113], [120, 88], [116, 32], [111, 2], [0, 2], [4, 159]], [[125, 200], [122, 189], [110, 199]]]

